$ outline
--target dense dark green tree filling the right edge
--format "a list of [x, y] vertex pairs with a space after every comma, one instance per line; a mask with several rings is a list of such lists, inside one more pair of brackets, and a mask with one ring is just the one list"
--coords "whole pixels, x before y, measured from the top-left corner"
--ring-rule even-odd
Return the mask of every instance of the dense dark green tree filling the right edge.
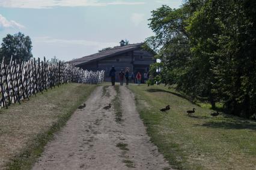
[[254, 1], [206, 1], [189, 19], [191, 51], [209, 98], [224, 101], [229, 113], [255, 114]]

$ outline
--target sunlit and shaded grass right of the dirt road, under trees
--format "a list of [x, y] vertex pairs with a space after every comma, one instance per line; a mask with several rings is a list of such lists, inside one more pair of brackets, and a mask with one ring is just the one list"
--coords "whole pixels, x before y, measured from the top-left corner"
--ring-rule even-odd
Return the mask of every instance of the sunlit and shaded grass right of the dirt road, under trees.
[[[256, 122], [199, 107], [174, 89], [129, 86], [151, 141], [176, 169], [255, 169]], [[147, 102], [147, 106], [145, 106]], [[171, 105], [168, 113], [160, 108]], [[186, 111], [196, 108], [195, 114]]]

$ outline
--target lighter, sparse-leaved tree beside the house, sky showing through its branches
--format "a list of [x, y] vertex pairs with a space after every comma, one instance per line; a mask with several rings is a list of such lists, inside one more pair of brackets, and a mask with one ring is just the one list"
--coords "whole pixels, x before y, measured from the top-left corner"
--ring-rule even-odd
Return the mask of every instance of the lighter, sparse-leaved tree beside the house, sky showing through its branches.
[[151, 66], [151, 71], [160, 67], [159, 77], [162, 83], [175, 84], [190, 58], [185, 30], [187, 11], [184, 8], [172, 9], [163, 5], [151, 13], [149, 26], [156, 35], [147, 38], [146, 42], [157, 51], [156, 59], [161, 60], [161, 63]]

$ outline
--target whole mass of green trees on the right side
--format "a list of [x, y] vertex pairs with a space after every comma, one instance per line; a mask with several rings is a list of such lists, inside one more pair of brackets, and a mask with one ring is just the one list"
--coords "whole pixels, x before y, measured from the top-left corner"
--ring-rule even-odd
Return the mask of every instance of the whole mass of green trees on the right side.
[[157, 51], [157, 78], [227, 113], [256, 113], [256, 1], [188, 0], [178, 9], [151, 12], [147, 39]]

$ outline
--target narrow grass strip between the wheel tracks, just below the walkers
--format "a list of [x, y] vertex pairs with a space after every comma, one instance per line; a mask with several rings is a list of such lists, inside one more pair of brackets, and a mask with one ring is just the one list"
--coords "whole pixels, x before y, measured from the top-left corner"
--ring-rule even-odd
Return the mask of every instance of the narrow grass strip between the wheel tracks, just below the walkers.
[[117, 92], [117, 95], [115, 96], [113, 103], [114, 103], [114, 109], [115, 109], [115, 122], [121, 123], [122, 121], [122, 110], [121, 110], [121, 99], [120, 99], [120, 87], [114, 86], [115, 92]]

